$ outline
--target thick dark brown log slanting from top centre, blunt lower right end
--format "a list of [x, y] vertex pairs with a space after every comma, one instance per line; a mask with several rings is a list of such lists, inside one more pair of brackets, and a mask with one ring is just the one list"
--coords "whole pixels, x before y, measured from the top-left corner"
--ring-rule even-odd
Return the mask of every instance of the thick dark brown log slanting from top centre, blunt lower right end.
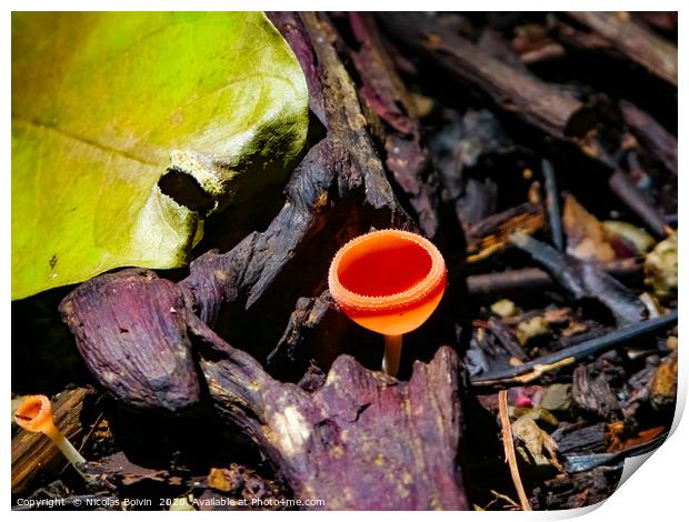
[[583, 104], [536, 77], [511, 68], [426, 13], [380, 17], [390, 38], [453, 77], [469, 81], [502, 109], [556, 137], [583, 135], [592, 126]]

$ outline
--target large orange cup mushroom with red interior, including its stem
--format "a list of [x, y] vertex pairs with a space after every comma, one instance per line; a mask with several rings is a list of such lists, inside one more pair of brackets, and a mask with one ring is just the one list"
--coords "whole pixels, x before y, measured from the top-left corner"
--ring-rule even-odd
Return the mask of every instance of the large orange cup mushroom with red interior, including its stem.
[[380, 230], [352, 239], [334, 255], [328, 273], [340, 309], [368, 330], [382, 333], [382, 370], [397, 375], [402, 335], [438, 307], [447, 281], [445, 260], [419, 234]]

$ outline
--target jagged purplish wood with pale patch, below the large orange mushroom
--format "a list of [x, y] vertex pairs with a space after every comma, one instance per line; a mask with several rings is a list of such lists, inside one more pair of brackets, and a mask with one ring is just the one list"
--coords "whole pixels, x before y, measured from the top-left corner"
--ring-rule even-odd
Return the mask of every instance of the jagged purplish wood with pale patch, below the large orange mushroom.
[[409, 382], [340, 355], [308, 393], [271, 379], [203, 322], [201, 369], [220, 412], [254, 440], [301, 500], [328, 510], [468, 509], [456, 464], [458, 360], [441, 348]]

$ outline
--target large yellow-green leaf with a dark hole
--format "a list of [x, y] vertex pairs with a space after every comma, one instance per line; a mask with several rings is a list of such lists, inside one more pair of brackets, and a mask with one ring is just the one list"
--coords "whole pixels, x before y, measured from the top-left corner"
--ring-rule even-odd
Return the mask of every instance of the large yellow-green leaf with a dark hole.
[[12, 299], [183, 265], [204, 215], [284, 179], [307, 126], [262, 13], [13, 13]]

